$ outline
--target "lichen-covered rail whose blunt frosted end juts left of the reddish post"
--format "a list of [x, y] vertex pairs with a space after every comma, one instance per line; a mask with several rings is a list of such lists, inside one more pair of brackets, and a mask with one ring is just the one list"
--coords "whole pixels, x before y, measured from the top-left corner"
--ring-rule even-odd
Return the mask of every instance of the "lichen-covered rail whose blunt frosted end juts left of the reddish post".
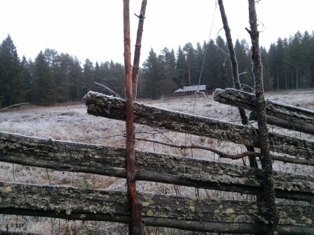
[[[126, 102], [124, 100], [89, 91], [85, 96], [85, 103], [89, 114], [108, 119], [126, 120]], [[260, 147], [258, 130], [255, 128], [140, 103], [134, 103], [134, 122], [155, 128], [165, 128], [174, 132], [185, 132], [191, 135]], [[314, 159], [314, 142], [269, 133], [269, 144], [271, 151]]]

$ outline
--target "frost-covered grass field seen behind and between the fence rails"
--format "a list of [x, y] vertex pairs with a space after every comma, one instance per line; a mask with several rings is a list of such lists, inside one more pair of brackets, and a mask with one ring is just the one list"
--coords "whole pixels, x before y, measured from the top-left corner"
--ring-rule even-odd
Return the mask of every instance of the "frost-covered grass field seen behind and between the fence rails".
[[[314, 90], [304, 91], [281, 91], [267, 93], [266, 98], [276, 102], [295, 105], [306, 109], [314, 110]], [[180, 98], [170, 100], [138, 100], [147, 105], [154, 105], [164, 109], [172, 109], [180, 112], [187, 112], [198, 116], [206, 116], [222, 121], [230, 121], [240, 124], [239, 113], [236, 107], [230, 107], [214, 102], [211, 97], [205, 98]], [[254, 124], [253, 124], [254, 125]], [[312, 135], [305, 135], [299, 132], [282, 130], [272, 127], [269, 129], [281, 134], [292, 135], [314, 141]], [[104, 144], [107, 146], [125, 146], [125, 123], [114, 121], [87, 114], [87, 107], [84, 104], [63, 105], [54, 107], [33, 107], [24, 106], [15, 109], [6, 109], [0, 112], [0, 131], [13, 132], [31, 137], [60, 139], [71, 142], [85, 142], [90, 144]], [[216, 139], [186, 135], [179, 132], [167, 132], [147, 126], [135, 126], [136, 137], [146, 137], [160, 142], [173, 142], [174, 144], [197, 144], [209, 146], [226, 153], [240, 153], [245, 150], [244, 146], [235, 145], [229, 142], [222, 142]], [[200, 158], [207, 160], [232, 162], [233, 164], [248, 164], [248, 160], [227, 160], [219, 159], [216, 154], [197, 149], [182, 151], [160, 144], [149, 142], [136, 142], [135, 148], [144, 151], [158, 153], [169, 153], [189, 158]], [[313, 174], [313, 167], [295, 166], [291, 164], [277, 163], [276, 170], [294, 174]], [[98, 176], [92, 174], [80, 174], [69, 172], [57, 172], [51, 169], [40, 169], [35, 167], [24, 167], [0, 162], [0, 181], [16, 183], [40, 183], [50, 185], [73, 185], [83, 188], [95, 188], [106, 190], [126, 190], [124, 179]], [[139, 190], [154, 193], [168, 193], [174, 195], [188, 195], [199, 197], [219, 197], [228, 199], [244, 199], [241, 195], [234, 195], [227, 192], [215, 192], [211, 190], [195, 190], [193, 188], [167, 185], [162, 183], [139, 182]], [[1, 229], [12, 225], [16, 228], [17, 221], [21, 228], [28, 232], [38, 234], [70, 234], [77, 227], [77, 231], [91, 231], [91, 234], [114, 234], [112, 231], [123, 231], [124, 225], [115, 225], [105, 222], [87, 222], [84, 225], [80, 222], [68, 222], [42, 218], [33, 220], [29, 217], [5, 216], [0, 219]], [[118, 229], [119, 227], [119, 229]], [[121, 230], [122, 229], [122, 230]], [[17, 230], [20, 231], [20, 230]], [[22, 231], [22, 230], [21, 230]], [[98, 233], [98, 232], [99, 233]], [[155, 234], [155, 230], [152, 230]], [[126, 232], [121, 232], [126, 234]]]

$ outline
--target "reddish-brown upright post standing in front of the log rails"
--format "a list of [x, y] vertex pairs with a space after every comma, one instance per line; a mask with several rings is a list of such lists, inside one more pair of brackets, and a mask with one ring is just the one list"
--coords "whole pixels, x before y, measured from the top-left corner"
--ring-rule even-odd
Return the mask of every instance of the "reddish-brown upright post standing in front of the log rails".
[[137, 196], [135, 181], [135, 148], [133, 122], [133, 86], [130, 61], [130, 1], [124, 0], [124, 66], [126, 77], [126, 170], [131, 222], [129, 234], [143, 234], [142, 202]]

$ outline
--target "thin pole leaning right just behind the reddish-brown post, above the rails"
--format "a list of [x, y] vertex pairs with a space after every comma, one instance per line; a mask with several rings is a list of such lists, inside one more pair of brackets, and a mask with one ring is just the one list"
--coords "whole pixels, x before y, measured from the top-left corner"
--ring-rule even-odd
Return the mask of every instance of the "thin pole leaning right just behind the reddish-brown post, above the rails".
[[142, 47], [142, 34], [143, 34], [146, 6], [147, 6], [147, 0], [143, 0], [141, 10], [140, 10], [140, 15], [137, 15], [138, 25], [137, 25], [135, 52], [134, 52], [133, 67], [132, 67], [132, 83], [133, 83], [133, 100], [134, 101], [136, 100], [136, 96], [137, 96], [137, 80], [138, 80], [138, 74], [140, 71], [140, 55], [141, 55], [141, 47]]

